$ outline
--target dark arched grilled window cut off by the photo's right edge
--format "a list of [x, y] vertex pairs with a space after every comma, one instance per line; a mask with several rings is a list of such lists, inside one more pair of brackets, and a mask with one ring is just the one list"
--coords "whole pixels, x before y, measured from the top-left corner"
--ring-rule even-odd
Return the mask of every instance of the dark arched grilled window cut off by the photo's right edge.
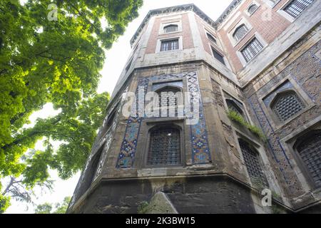
[[302, 161], [317, 187], [321, 187], [321, 132], [309, 134], [297, 145]]

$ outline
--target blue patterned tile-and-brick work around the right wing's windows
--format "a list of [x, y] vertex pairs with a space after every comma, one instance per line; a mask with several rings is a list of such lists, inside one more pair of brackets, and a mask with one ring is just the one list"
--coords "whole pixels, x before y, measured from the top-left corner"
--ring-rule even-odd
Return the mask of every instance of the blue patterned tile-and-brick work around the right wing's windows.
[[[320, 42], [310, 48], [308, 51], [302, 54], [299, 58], [293, 61], [287, 68], [285, 68], [279, 75], [275, 76], [265, 86], [260, 88], [256, 93], [250, 95], [248, 101], [251, 108], [254, 110], [254, 114], [260, 123], [265, 135], [267, 135], [267, 144], [272, 152], [277, 165], [279, 166], [280, 172], [284, 177], [285, 183], [287, 184], [287, 190], [292, 195], [302, 194], [302, 187], [300, 182], [297, 180], [297, 175], [293, 170], [290, 163], [289, 157], [285, 152], [285, 148], [280, 142], [282, 135], [288, 135], [297, 126], [304, 125], [308, 120], [317, 118], [320, 115], [319, 106], [311, 108], [300, 117], [295, 118], [282, 126], [281, 130], [274, 129], [267, 118], [267, 113], [263, 111], [259, 98], [263, 96], [265, 90], [272, 88], [273, 85], [280, 82], [283, 78], [290, 76], [292, 77], [298, 86], [309, 96], [312, 102], [320, 104], [321, 101], [321, 88], [320, 88], [320, 64], [319, 58], [316, 58], [315, 53], [320, 50]], [[306, 116], [305, 116], [306, 115]]]

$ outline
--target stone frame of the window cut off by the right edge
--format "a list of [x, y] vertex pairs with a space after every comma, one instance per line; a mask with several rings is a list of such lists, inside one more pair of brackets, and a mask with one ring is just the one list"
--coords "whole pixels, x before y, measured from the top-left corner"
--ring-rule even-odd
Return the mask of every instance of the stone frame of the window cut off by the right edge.
[[317, 187], [317, 185], [315, 185], [315, 182], [310, 175], [310, 171], [302, 161], [299, 152], [297, 152], [295, 149], [295, 143], [299, 138], [305, 137], [305, 135], [314, 130], [321, 130], [321, 115], [313, 120], [310, 120], [310, 122], [305, 123], [305, 125], [300, 126], [296, 130], [292, 131], [292, 133], [289, 135], [286, 135], [284, 138], [280, 139], [280, 143], [285, 147], [285, 149], [287, 149], [285, 150], [287, 157], [294, 158], [290, 160], [291, 165], [305, 192], [310, 192], [311, 190], [312, 192], [320, 192], [321, 187]]

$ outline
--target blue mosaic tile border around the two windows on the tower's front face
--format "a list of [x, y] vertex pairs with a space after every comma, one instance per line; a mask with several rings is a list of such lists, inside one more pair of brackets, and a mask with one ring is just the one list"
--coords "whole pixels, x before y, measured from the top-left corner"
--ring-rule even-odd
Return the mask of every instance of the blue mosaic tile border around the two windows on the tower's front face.
[[[203, 103], [200, 98], [200, 88], [198, 85], [198, 75], [196, 72], [170, 74], [162, 76], [151, 76], [150, 78], [141, 78], [138, 81], [138, 88], [144, 89], [144, 94], [147, 92], [148, 83], [150, 81], [166, 81], [172, 79], [187, 78], [188, 92], [190, 92], [189, 99], [193, 103], [193, 99], [198, 99], [199, 121], [195, 125], [190, 125], [190, 140], [192, 144], [192, 160], [193, 164], [206, 164], [211, 162], [210, 150], [208, 147], [208, 133], [205, 126], [205, 118], [203, 114]], [[136, 89], [136, 97], [138, 97], [138, 88]], [[126, 127], [126, 133], [121, 144], [121, 152], [118, 156], [117, 168], [130, 168], [133, 167], [135, 160], [136, 147], [138, 142], [138, 134], [141, 129], [141, 122], [144, 118], [139, 117], [138, 113], [142, 111], [142, 108], [136, 108], [138, 105], [133, 105], [131, 110], [131, 116], [128, 118]], [[185, 113], [188, 114], [188, 113]]]

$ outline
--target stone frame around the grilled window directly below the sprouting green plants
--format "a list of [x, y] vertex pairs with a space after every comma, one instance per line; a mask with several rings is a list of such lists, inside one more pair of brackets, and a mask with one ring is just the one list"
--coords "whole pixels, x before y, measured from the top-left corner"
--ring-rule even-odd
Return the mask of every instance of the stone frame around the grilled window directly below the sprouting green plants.
[[269, 185], [269, 189], [273, 190], [274, 192], [277, 192], [277, 194], [279, 194], [281, 196], [284, 195], [282, 192], [282, 189], [278, 185], [278, 181], [277, 181], [277, 178], [275, 177], [275, 173], [273, 171], [271, 162], [270, 162], [269, 158], [267, 157], [267, 152], [265, 151], [265, 147], [260, 142], [258, 142], [254, 138], [250, 137], [250, 135], [245, 135], [245, 133], [241, 132], [240, 130], [238, 130], [237, 128], [235, 128], [233, 126], [232, 126], [232, 129], [233, 129], [234, 138], [236, 139], [236, 141], [235, 141], [236, 142], [236, 149], [238, 150], [238, 153], [240, 155], [240, 160], [241, 160], [242, 165], [245, 170], [245, 177], [247, 178], [250, 185], [252, 187], [255, 187], [255, 185], [253, 184], [253, 182], [250, 178], [250, 175], [248, 174], [248, 169], [245, 166], [243, 152], [242, 152], [242, 150], [240, 148], [240, 144], [238, 142], [239, 139], [242, 139], [245, 142], [249, 142], [250, 145], [252, 145], [252, 147], [255, 148], [256, 152], [258, 152], [259, 159], [260, 159], [260, 165], [262, 167], [263, 173], [264, 173], [265, 178], [267, 180], [267, 184]]

